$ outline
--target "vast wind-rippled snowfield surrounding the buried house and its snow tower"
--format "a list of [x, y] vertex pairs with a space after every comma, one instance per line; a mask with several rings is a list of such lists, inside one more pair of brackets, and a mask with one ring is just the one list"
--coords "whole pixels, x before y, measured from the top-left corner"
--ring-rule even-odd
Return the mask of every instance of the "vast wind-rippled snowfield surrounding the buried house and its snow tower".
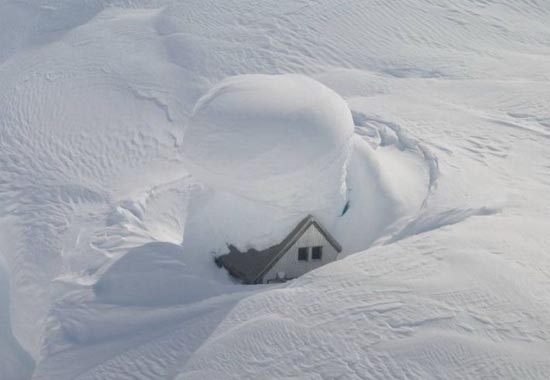
[[[550, 378], [549, 25], [546, 0], [0, 1], [0, 378]], [[204, 191], [184, 126], [251, 73], [343, 96], [380, 163], [351, 194], [406, 190], [277, 288], [174, 246]]]

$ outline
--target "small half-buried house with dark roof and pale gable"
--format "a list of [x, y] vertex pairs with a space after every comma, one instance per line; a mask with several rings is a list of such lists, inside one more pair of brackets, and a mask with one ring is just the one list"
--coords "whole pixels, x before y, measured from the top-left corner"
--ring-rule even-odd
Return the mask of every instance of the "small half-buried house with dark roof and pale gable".
[[342, 251], [334, 237], [311, 215], [304, 218], [279, 244], [258, 251], [229, 253], [216, 263], [245, 284], [284, 282], [337, 259]]

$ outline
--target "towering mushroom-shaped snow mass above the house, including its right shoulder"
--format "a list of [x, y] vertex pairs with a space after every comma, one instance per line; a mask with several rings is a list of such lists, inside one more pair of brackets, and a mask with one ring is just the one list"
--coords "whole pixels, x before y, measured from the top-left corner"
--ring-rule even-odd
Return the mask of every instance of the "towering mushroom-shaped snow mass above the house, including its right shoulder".
[[[304, 215], [330, 226], [344, 253], [366, 248], [407, 207], [420, 206], [427, 177], [411, 168], [406, 186], [386, 178], [353, 130], [344, 99], [303, 75], [241, 75], [215, 85], [197, 101], [181, 145], [185, 167], [205, 186], [190, 199], [186, 256], [210, 259], [230, 243], [270, 247]], [[402, 166], [394, 173], [408, 171]], [[405, 191], [418, 197], [400, 200]], [[356, 225], [365, 226], [361, 234], [348, 233]]]

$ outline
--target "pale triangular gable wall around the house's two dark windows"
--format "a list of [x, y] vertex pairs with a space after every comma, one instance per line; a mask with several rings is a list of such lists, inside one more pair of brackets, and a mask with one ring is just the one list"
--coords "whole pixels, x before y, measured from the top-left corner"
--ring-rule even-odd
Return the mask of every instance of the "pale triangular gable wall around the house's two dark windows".
[[[323, 255], [321, 260], [311, 260], [311, 247], [322, 246]], [[309, 261], [298, 261], [298, 248], [310, 247]], [[278, 272], [285, 272], [287, 278], [296, 278], [315, 268], [336, 260], [338, 252], [325, 239], [323, 234], [314, 226], [310, 225], [303, 235], [290, 247], [281, 259], [264, 275], [263, 282], [277, 278]]]

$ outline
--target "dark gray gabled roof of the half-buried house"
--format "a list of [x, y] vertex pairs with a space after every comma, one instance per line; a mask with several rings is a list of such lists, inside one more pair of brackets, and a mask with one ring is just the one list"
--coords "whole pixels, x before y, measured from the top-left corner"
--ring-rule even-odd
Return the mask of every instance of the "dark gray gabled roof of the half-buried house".
[[312, 224], [337, 252], [342, 251], [342, 247], [336, 239], [312, 215], [308, 215], [279, 244], [262, 251], [249, 249], [246, 252], [239, 251], [234, 245], [228, 245], [229, 253], [218, 256], [216, 263], [225, 267], [232, 276], [241, 279], [244, 283], [260, 282], [263, 275], [275, 265]]

